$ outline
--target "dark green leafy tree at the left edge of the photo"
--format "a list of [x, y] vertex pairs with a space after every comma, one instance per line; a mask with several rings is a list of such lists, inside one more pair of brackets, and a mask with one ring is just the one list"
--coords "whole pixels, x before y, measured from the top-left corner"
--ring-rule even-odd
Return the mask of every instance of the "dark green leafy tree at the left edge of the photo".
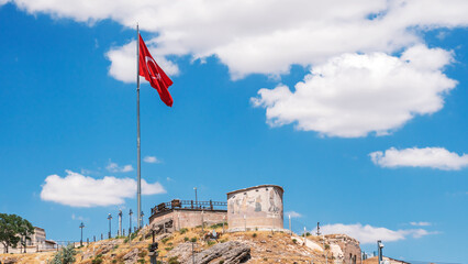
[[26, 240], [31, 240], [30, 235], [33, 233], [34, 228], [26, 219], [16, 215], [0, 213], [0, 242], [5, 253], [10, 246], [16, 248], [22, 239], [25, 246]]

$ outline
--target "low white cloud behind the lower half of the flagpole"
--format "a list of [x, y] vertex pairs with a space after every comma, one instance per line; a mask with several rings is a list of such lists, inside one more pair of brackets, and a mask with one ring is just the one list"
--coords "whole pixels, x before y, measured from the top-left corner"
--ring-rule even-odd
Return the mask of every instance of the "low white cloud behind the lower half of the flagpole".
[[[41, 199], [71, 207], [98, 207], [124, 204], [125, 198], [136, 195], [136, 180], [105, 176], [101, 179], [83, 176], [71, 170], [67, 175], [49, 175], [42, 186]], [[159, 183], [142, 179], [143, 195], [166, 194]]]

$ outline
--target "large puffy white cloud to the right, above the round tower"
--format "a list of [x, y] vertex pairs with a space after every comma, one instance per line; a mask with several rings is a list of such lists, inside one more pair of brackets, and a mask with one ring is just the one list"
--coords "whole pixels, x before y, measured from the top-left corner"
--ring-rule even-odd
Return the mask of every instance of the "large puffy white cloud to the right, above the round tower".
[[342, 138], [387, 134], [443, 107], [456, 85], [441, 72], [450, 61], [450, 53], [423, 45], [401, 57], [344, 54], [315, 66], [294, 91], [283, 85], [260, 89], [253, 103], [266, 108], [272, 127], [296, 123], [298, 130]]

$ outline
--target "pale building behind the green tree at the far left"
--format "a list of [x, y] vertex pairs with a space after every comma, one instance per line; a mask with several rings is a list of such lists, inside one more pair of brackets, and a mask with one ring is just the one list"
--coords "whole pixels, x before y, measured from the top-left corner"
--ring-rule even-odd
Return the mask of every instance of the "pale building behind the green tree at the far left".
[[[26, 241], [26, 252], [34, 253], [41, 251], [53, 251], [56, 249], [56, 243], [52, 240], [46, 240], [45, 230], [42, 228], [34, 227], [34, 234], [31, 235], [31, 240]], [[4, 252], [5, 249], [2, 243], [0, 243], [0, 252]], [[23, 253], [24, 246], [18, 243], [16, 248], [9, 248], [9, 253]]]

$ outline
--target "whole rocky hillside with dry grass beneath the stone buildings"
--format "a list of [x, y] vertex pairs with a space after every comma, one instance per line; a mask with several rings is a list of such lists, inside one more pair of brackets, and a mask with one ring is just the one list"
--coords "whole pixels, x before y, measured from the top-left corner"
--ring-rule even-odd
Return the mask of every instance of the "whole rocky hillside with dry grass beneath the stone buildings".
[[[221, 227], [212, 227], [222, 233]], [[207, 229], [205, 229], [207, 231]], [[159, 243], [158, 261], [163, 263], [325, 263], [332, 260], [332, 249], [319, 238], [303, 238], [288, 232], [236, 232], [221, 234], [218, 240], [204, 239], [201, 228], [182, 229], [174, 233], [155, 237]], [[193, 241], [193, 242], [192, 242]], [[76, 249], [76, 262], [79, 264], [99, 263], [149, 263], [148, 246], [152, 243], [151, 231], [145, 228], [132, 241], [111, 239]], [[192, 254], [193, 246], [193, 254]], [[323, 249], [323, 246], [325, 249]], [[332, 246], [333, 248], [333, 246]], [[330, 253], [330, 254], [328, 254]], [[52, 260], [54, 252], [31, 254], [0, 254], [0, 262], [33, 264]]]

